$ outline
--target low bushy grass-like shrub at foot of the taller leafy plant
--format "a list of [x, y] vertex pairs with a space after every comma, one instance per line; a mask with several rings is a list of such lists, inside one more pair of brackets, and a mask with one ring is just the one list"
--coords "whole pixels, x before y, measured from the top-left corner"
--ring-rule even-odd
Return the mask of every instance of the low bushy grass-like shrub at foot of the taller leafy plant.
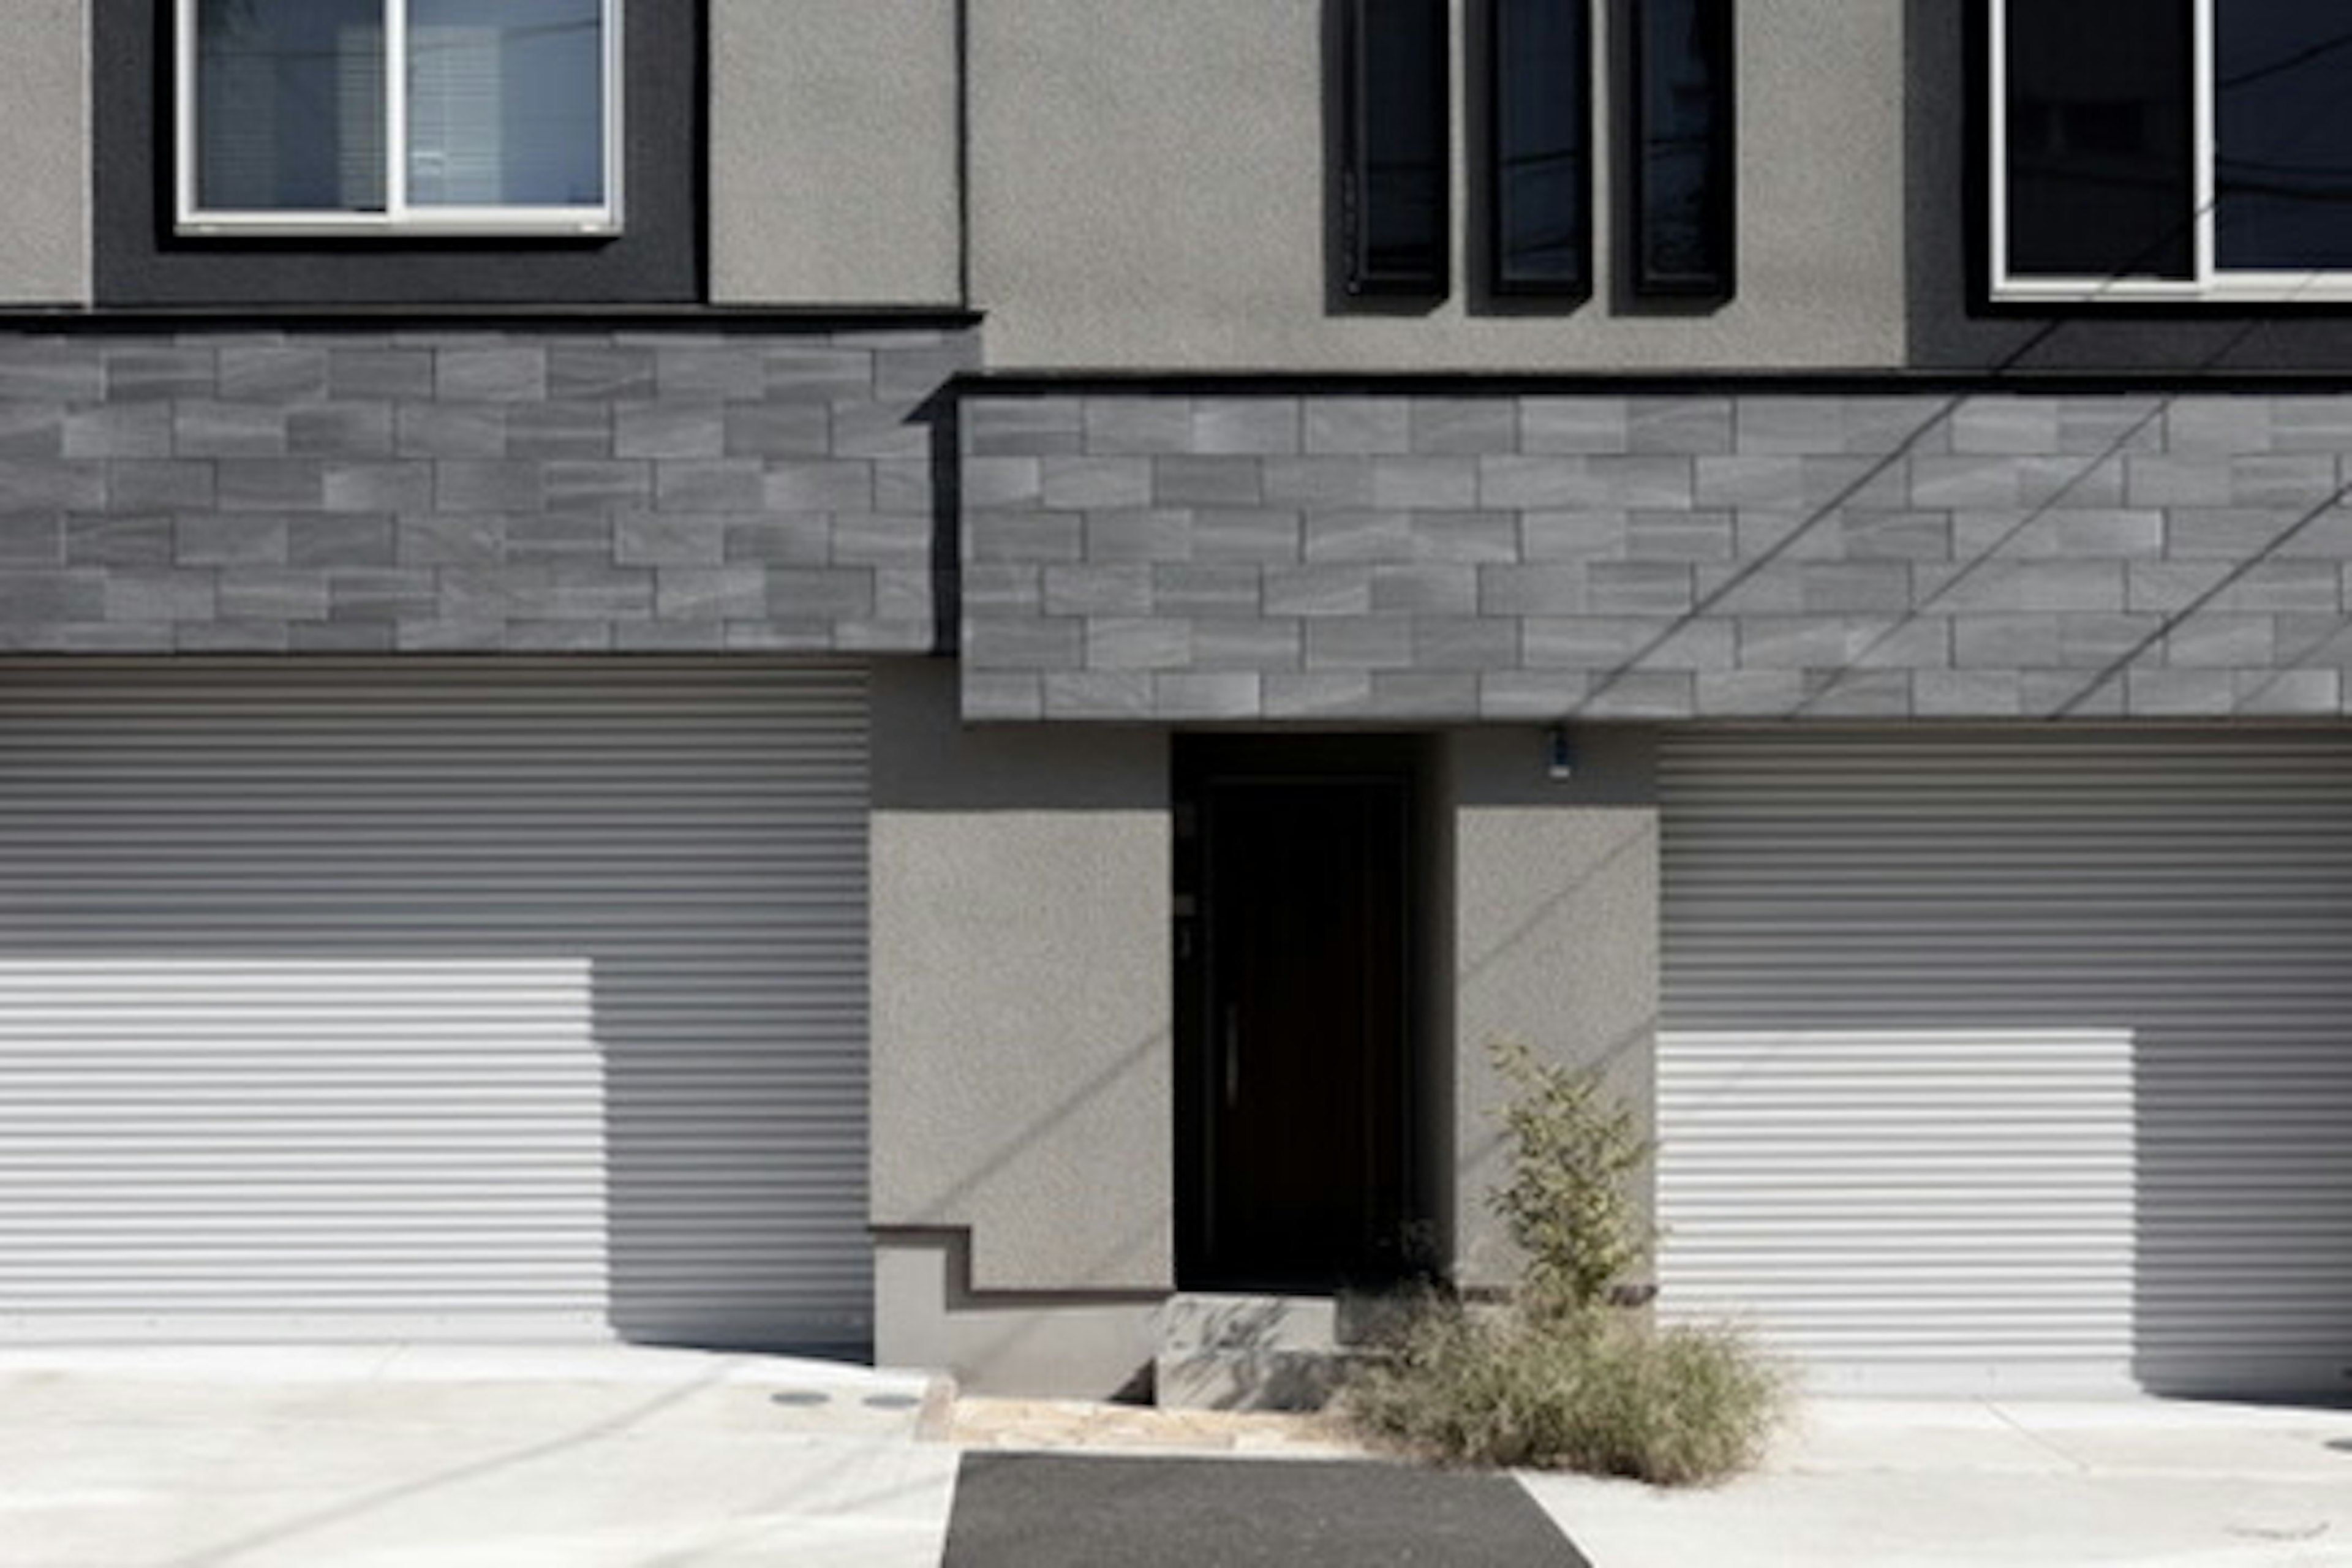
[[1437, 1462], [1693, 1486], [1752, 1467], [1783, 1401], [1780, 1373], [1729, 1328], [1430, 1300], [1357, 1373], [1345, 1408]]

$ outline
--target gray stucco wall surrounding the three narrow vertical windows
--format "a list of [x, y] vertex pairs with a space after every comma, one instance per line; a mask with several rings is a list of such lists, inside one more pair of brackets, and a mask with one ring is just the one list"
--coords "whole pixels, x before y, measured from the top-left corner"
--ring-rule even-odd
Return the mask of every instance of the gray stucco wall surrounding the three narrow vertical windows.
[[[1738, 7], [1740, 280], [1731, 306], [1700, 315], [1611, 303], [1609, 214], [1625, 181], [1606, 174], [1599, 289], [1571, 313], [1472, 313], [1463, 287], [1428, 313], [1334, 308], [1327, 12], [1319, 0], [971, 9], [971, 282], [993, 364], [1900, 364], [1898, 0]], [[1616, 7], [1595, 14], [1606, 24]], [[1599, 78], [1611, 49], [1597, 45]], [[1468, 94], [1454, 101], [1461, 115]], [[1613, 118], [1597, 125], [1606, 139]], [[1461, 143], [1456, 132], [1456, 162]], [[1454, 186], [1461, 252], [1468, 181]]]

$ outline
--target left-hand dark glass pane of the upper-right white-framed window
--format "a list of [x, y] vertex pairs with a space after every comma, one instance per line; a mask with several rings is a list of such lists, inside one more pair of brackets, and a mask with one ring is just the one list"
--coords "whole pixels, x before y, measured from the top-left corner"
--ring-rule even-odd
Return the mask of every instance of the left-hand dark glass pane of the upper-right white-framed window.
[[2194, 275], [2190, 0], [2009, 0], [2009, 270]]

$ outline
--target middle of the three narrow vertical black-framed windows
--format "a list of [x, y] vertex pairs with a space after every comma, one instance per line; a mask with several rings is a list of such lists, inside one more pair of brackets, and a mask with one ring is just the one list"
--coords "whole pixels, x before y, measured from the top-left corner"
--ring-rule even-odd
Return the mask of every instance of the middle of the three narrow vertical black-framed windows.
[[1590, 0], [1489, 0], [1496, 294], [1592, 292]]

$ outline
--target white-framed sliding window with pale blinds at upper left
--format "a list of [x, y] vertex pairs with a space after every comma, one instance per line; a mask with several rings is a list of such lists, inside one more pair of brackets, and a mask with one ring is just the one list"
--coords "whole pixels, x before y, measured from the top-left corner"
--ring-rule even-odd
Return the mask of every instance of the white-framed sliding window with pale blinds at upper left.
[[183, 235], [621, 228], [621, 0], [174, 0]]

